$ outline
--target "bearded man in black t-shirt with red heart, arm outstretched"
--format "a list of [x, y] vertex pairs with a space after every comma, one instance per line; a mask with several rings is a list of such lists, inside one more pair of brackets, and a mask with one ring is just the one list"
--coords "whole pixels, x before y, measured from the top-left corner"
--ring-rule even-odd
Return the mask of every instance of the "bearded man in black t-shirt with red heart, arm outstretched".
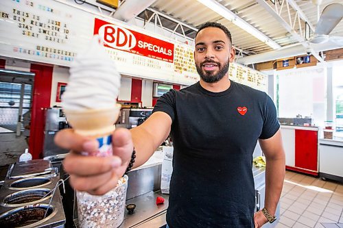
[[[164, 94], [139, 127], [117, 129], [113, 134], [115, 156], [89, 159], [74, 152], [64, 160], [64, 168], [78, 190], [104, 194], [128, 167], [133, 146], [137, 151], [133, 167], [137, 167], [170, 133], [174, 170], [167, 225], [261, 227], [273, 220], [285, 175], [274, 104], [265, 92], [228, 79], [235, 50], [226, 27], [206, 23], [195, 42], [198, 83]], [[266, 191], [263, 212], [254, 214], [252, 153], [257, 140], [267, 160]], [[56, 142], [73, 151], [97, 149], [95, 140], [77, 136], [72, 130], [59, 133]]]

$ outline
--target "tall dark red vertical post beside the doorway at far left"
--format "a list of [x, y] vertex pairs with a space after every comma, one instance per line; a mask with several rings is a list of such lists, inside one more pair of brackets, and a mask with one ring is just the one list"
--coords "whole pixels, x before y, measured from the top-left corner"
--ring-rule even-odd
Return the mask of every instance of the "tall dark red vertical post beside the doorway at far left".
[[43, 157], [45, 108], [50, 107], [53, 66], [31, 64], [34, 76], [29, 151], [33, 159]]

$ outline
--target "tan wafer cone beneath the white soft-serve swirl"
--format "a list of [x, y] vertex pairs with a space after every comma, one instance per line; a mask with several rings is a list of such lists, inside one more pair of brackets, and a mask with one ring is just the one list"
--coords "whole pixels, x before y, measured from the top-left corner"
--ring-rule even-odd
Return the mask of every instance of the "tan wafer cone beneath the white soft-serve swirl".
[[121, 105], [100, 110], [64, 110], [68, 122], [75, 129], [75, 133], [82, 136], [99, 138], [108, 136], [115, 130]]

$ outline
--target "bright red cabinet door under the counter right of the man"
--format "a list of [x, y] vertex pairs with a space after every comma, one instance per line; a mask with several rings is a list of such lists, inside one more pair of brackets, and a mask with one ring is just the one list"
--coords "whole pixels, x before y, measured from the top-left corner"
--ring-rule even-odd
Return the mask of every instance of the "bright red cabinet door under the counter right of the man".
[[318, 171], [318, 131], [296, 129], [295, 165]]

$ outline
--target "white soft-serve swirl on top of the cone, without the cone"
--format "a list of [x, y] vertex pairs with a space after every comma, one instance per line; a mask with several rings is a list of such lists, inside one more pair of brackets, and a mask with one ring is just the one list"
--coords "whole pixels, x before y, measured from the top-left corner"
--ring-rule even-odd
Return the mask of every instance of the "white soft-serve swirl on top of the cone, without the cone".
[[84, 53], [71, 63], [69, 83], [62, 95], [64, 110], [106, 109], [115, 106], [120, 88], [120, 74], [94, 36]]

